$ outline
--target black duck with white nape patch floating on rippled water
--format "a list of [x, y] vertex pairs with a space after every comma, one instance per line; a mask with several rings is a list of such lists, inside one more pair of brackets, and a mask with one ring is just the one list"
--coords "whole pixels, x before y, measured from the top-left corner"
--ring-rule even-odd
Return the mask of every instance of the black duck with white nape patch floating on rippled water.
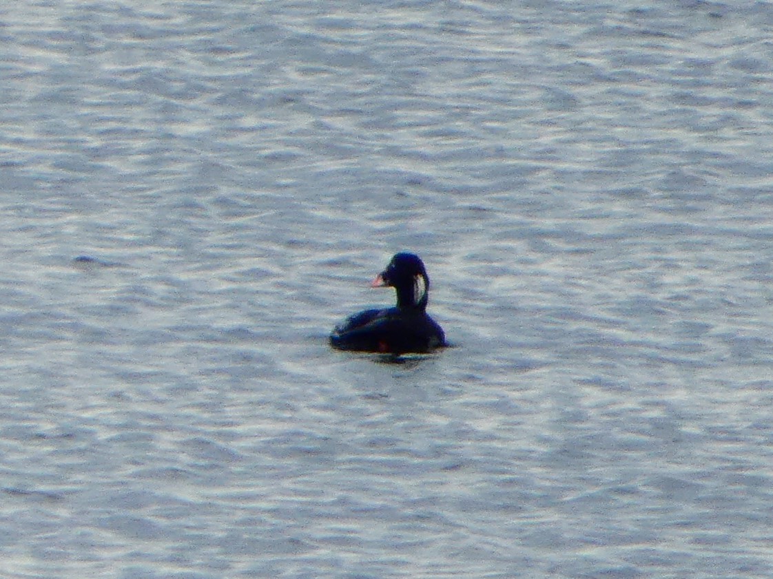
[[446, 347], [440, 325], [427, 314], [430, 278], [414, 253], [396, 253], [371, 287], [393, 287], [397, 305], [349, 316], [330, 334], [338, 350], [380, 354], [427, 354]]

